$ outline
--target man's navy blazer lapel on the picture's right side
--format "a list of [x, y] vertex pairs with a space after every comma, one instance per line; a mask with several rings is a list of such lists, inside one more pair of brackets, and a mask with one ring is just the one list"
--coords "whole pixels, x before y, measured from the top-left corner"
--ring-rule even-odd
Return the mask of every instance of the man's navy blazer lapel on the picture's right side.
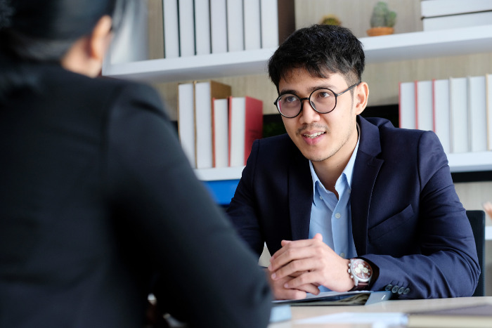
[[352, 235], [357, 254], [366, 254], [370, 199], [377, 174], [384, 162], [376, 156], [381, 152], [380, 131], [362, 117], [357, 117], [361, 128], [354, 175], [351, 186]]

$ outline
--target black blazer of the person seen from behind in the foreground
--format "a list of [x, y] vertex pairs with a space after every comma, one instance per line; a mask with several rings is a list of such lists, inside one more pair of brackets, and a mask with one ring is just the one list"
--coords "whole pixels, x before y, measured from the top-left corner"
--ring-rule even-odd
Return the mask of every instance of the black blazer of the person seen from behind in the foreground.
[[266, 327], [264, 273], [157, 93], [31, 72], [0, 108], [0, 327], [141, 327], [151, 291], [192, 327]]

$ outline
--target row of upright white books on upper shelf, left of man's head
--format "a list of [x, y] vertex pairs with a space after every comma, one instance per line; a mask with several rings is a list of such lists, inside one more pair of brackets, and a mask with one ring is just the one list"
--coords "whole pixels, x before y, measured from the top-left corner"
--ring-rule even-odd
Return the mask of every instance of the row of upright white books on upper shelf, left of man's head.
[[149, 15], [162, 26], [158, 58], [276, 48], [295, 29], [294, 0], [150, 0]]

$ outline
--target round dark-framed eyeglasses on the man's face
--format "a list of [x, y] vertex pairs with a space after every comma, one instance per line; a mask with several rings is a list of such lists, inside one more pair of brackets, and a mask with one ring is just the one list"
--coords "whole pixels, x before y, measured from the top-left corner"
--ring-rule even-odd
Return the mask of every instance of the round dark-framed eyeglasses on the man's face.
[[317, 88], [315, 91], [311, 92], [307, 98], [299, 98], [299, 96], [294, 95], [294, 93], [284, 93], [283, 95], [280, 95], [273, 104], [277, 106], [278, 112], [288, 119], [292, 119], [301, 114], [304, 100], [309, 100], [311, 107], [313, 107], [313, 110], [316, 110], [316, 112], [328, 114], [337, 107], [338, 96], [355, 88], [359, 84], [361, 84], [361, 81], [358, 81], [353, 86], [349, 86], [349, 88], [340, 93], [335, 93], [329, 88]]

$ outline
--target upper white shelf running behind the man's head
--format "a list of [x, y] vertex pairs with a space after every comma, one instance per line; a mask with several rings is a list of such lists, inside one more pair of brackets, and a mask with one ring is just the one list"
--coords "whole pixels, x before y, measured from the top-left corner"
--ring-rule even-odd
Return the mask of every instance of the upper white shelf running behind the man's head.
[[[492, 25], [360, 39], [366, 63], [492, 51]], [[148, 82], [178, 82], [266, 73], [274, 48], [105, 65], [103, 75]]]

